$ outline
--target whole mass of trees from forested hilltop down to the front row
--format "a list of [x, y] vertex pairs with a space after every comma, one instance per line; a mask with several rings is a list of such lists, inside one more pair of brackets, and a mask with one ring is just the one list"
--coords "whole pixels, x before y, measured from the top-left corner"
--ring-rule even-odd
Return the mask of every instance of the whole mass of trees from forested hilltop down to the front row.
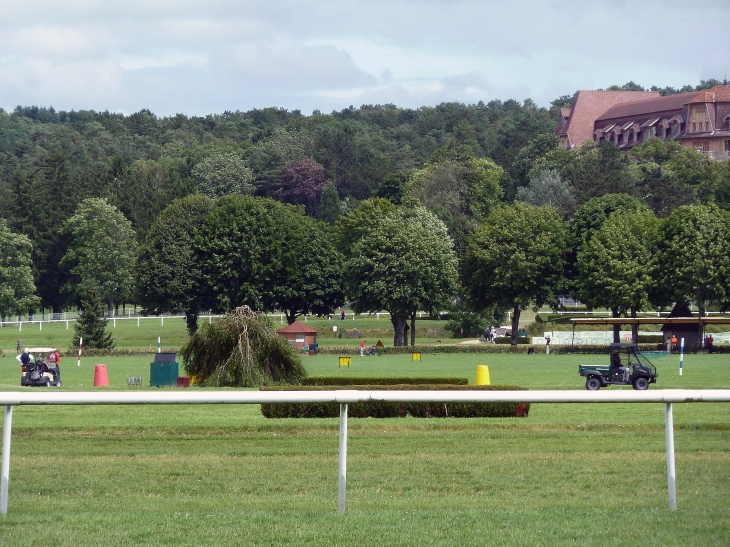
[[[678, 277], [660, 276], [681, 266], [662, 230], [710, 211], [722, 232], [730, 162], [659, 139], [628, 154], [591, 142], [567, 152], [555, 116], [530, 101], [312, 116], [0, 112], [0, 313], [61, 311], [93, 291], [109, 308], [183, 312], [194, 332], [200, 310], [246, 304], [293, 321], [347, 300], [391, 311], [400, 344], [415, 310], [448, 306], [455, 328], [476, 332], [558, 292], [616, 314], [722, 304], [714, 289], [680, 295]], [[641, 219], [622, 217], [609, 236], [613, 213]], [[591, 243], [599, 232], [605, 242]], [[610, 283], [587, 272], [634, 232], [653, 239], [621, 290], [646, 294], [614, 305]], [[507, 299], [507, 285], [521, 292]]]

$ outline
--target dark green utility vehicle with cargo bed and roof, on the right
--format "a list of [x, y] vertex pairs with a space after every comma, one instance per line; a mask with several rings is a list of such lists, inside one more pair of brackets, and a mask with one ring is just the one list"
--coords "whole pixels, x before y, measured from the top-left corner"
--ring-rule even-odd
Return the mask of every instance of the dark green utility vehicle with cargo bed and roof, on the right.
[[578, 365], [578, 373], [586, 378], [586, 389], [595, 391], [609, 385], [629, 385], [644, 390], [656, 383], [656, 367], [636, 344], [611, 344], [609, 351], [608, 365]]

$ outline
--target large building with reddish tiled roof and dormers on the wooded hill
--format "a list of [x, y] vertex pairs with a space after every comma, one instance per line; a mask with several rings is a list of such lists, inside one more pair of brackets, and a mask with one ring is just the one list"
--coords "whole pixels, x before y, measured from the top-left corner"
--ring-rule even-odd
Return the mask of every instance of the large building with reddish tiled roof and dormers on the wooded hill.
[[[625, 93], [625, 100], [595, 95], [605, 93]], [[581, 94], [588, 95], [581, 97]], [[597, 112], [602, 106], [607, 107]], [[730, 159], [728, 85], [666, 97], [643, 91], [579, 91], [571, 108], [563, 110], [568, 111], [563, 114], [555, 134], [568, 150], [589, 138], [629, 149], [646, 139], [659, 137], [676, 140], [715, 159]], [[590, 135], [587, 135], [589, 125]]]

